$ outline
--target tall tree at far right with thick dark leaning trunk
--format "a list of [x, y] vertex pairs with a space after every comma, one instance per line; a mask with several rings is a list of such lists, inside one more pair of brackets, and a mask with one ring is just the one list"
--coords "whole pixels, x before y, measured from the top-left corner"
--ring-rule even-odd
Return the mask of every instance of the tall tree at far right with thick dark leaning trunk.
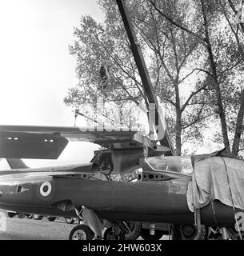
[[[236, 88], [231, 87], [233, 86], [233, 82], [230, 82], [230, 78], [233, 78], [233, 74], [236, 74], [234, 69], [239, 68], [240, 70], [242, 63], [240, 60], [242, 57], [242, 43], [237, 36], [238, 33], [234, 32], [233, 26], [230, 25], [230, 19], [228, 20], [226, 18], [225, 7], [220, 4], [221, 2], [219, 3], [217, 1], [204, 2], [199, 0], [198, 2], [195, 2], [194, 13], [198, 15], [200, 22], [198, 22], [196, 27], [192, 28], [187, 26], [186, 23], [179, 22], [172, 15], [170, 16], [170, 13], [167, 10], [159, 8], [158, 5], [161, 5], [161, 1], [160, 3], [152, 0], [150, 2], [163, 18], [182, 31], [198, 38], [202, 43], [202, 46], [205, 47], [207, 56], [206, 66], [208, 67], [205, 72], [212, 81], [210, 85], [212, 85], [212, 90], [214, 91], [214, 98], [212, 98], [212, 104], [210, 105], [217, 107], [218, 116], [221, 122], [223, 143], [226, 146], [226, 150], [230, 152], [226, 110], [228, 107], [231, 109], [231, 101], [234, 98], [234, 95], [238, 94], [238, 90], [235, 90], [237, 86]], [[229, 1], [229, 3], [230, 2], [231, 1]], [[225, 15], [225, 18], [229, 22], [229, 26], [225, 27], [225, 30], [227, 31], [227, 34], [225, 35], [221, 33], [222, 22], [224, 20], [222, 14]], [[234, 37], [230, 34], [231, 31], [234, 33]], [[234, 42], [234, 38], [236, 39], [236, 42]], [[237, 54], [237, 51], [241, 51], [241, 54]], [[227, 81], [230, 83], [227, 84]], [[238, 114], [239, 122], [242, 122], [241, 119], [242, 102], [240, 103], [240, 111]], [[238, 134], [240, 134], [240, 129], [238, 129]], [[236, 139], [239, 138], [238, 134]], [[236, 154], [236, 150], [234, 150], [234, 154]]]

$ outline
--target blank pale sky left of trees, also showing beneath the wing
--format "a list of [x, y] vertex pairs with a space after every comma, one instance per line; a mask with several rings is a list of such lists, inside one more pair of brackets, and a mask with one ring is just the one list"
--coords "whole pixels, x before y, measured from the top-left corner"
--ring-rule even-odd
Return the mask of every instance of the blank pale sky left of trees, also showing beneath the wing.
[[[63, 98], [78, 82], [69, 45], [83, 14], [104, 19], [95, 0], [0, 0], [0, 125], [74, 126]], [[27, 163], [90, 162], [94, 149], [72, 142], [56, 162]]]

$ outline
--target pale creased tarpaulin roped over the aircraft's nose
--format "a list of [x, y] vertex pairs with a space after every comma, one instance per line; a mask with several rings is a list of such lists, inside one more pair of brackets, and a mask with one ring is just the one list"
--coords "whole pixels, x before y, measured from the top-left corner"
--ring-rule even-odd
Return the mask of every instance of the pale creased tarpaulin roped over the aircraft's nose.
[[244, 162], [234, 158], [210, 157], [194, 162], [188, 183], [187, 203], [191, 211], [219, 200], [244, 210]]

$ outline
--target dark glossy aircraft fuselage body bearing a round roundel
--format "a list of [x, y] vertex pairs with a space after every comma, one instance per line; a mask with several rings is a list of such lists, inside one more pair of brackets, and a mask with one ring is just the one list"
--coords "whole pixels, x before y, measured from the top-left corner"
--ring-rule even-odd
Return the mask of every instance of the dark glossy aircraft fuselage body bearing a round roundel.
[[[114, 182], [74, 178], [72, 170], [8, 171], [0, 176], [0, 208], [30, 214], [75, 217], [62, 202], [86, 206], [108, 220], [194, 223], [186, 201], [189, 180]], [[73, 175], [73, 176], [72, 176]], [[225, 210], [223, 210], [223, 207]], [[215, 202], [218, 225], [233, 225], [233, 210]], [[210, 206], [202, 209], [202, 223], [214, 225]]]

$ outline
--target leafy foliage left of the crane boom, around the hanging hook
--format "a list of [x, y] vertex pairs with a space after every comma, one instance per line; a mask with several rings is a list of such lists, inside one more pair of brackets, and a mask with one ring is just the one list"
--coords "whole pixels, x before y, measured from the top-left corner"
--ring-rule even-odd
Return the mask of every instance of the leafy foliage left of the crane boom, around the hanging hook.
[[90, 16], [82, 17], [80, 28], [74, 30], [77, 40], [74, 46], [70, 46], [70, 54], [75, 55], [78, 61], [76, 71], [79, 83], [69, 90], [68, 96], [64, 99], [68, 106], [78, 108], [86, 104], [87, 111], [94, 110], [98, 97], [102, 97], [98, 90], [100, 83], [98, 70], [103, 63], [106, 63], [112, 70], [108, 89], [110, 94], [106, 102], [114, 102], [115, 106], [106, 108], [107, 113], [103, 114], [110, 121], [116, 119], [114, 126], [121, 123], [118, 120], [118, 113], [113, 114], [114, 108], [122, 110], [122, 106], [126, 105], [128, 100], [139, 105], [139, 101], [144, 98], [141, 84], [138, 82], [136, 66], [133, 62], [128, 62], [132, 57], [130, 50], [128, 46], [122, 44], [120, 38], [122, 34], [118, 30], [104, 28]]

